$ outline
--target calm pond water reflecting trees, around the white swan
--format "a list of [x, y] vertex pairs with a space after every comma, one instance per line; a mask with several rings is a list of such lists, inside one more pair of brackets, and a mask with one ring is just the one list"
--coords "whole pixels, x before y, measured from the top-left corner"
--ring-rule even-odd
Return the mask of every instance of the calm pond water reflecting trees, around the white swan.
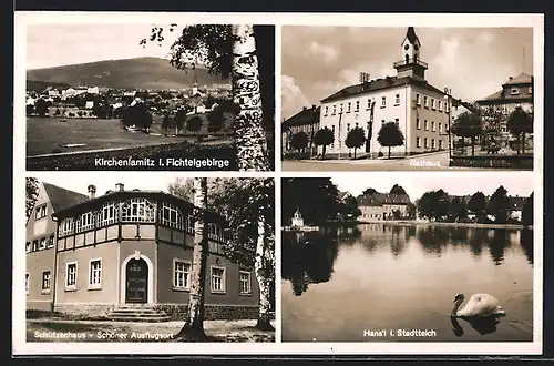
[[[283, 342], [533, 340], [530, 230], [324, 227], [284, 232], [281, 255]], [[459, 293], [506, 315], [452, 319]]]

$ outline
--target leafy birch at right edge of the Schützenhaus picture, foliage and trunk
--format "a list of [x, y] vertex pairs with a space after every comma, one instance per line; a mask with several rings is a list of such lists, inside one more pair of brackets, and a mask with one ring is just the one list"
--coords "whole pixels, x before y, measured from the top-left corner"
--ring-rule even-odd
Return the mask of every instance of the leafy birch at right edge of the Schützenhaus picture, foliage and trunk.
[[270, 308], [275, 281], [275, 184], [273, 179], [217, 179], [213, 207], [228, 220], [224, 246], [234, 262], [254, 266], [259, 285], [256, 328], [273, 331]]

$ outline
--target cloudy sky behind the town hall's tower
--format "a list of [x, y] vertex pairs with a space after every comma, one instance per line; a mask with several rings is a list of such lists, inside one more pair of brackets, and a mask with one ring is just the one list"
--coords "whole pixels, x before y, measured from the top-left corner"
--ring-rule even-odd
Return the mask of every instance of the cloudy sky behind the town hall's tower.
[[[281, 30], [281, 110], [287, 119], [340, 89], [396, 75], [407, 28], [302, 27]], [[532, 28], [416, 28], [425, 77], [464, 101], [485, 98], [509, 77], [533, 73]]]

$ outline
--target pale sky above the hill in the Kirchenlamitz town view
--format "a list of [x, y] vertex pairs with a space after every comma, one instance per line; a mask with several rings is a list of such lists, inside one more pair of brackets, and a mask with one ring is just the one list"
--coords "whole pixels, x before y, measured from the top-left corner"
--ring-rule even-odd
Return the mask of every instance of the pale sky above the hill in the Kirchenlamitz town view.
[[102, 60], [166, 58], [179, 32], [164, 31], [162, 47], [150, 43], [143, 48], [140, 42], [150, 37], [151, 29], [152, 24], [31, 24], [27, 28], [27, 70]]

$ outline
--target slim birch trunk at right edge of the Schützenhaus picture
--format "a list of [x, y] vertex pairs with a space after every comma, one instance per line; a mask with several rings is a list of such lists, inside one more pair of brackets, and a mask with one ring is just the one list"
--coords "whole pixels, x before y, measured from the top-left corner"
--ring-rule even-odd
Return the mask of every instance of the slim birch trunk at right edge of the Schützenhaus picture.
[[256, 261], [254, 263], [254, 271], [256, 273], [256, 279], [259, 285], [259, 314], [258, 314], [258, 323], [256, 324], [256, 328], [261, 331], [274, 331], [274, 327], [270, 323], [269, 312], [271, 307], [270, 301], [270, 286], [273, 276], [270, 266], [271, 263], [271, 252], [268, 247], [267, 237], [266, 237], [266, 218], [264, 213], [260, 212], [258, 218], [258, 242], [256, 245]]

